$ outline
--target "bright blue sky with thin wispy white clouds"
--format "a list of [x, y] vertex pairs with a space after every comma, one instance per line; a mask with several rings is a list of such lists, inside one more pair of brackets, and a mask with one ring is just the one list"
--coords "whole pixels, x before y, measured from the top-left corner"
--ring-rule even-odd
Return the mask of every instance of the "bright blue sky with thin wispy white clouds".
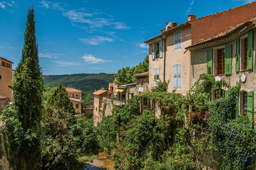
[[[160, 3], [161, 2], [161, 3]], [[26, 14], [34, 5], [36, 40], [43, 73], [116, 73], [143, 61], [143, 42], [159, 35], [166, 22], [185, 22], [250, 0], [0, 0], [0, 56], [17, 66]]]

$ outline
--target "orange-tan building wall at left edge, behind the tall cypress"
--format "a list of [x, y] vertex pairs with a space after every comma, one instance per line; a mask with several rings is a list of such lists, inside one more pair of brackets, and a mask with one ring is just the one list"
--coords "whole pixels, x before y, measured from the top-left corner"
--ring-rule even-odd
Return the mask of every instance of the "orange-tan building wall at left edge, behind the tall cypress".
[[8, 97], [10, 100], [12, 98], [12, 89], [8, 88], [8, 84], [12, 81], [13, 72], [12, 68], [0, 65], [0, 75], [2, 75], [2, 79], [0, 79], [0, 95]]

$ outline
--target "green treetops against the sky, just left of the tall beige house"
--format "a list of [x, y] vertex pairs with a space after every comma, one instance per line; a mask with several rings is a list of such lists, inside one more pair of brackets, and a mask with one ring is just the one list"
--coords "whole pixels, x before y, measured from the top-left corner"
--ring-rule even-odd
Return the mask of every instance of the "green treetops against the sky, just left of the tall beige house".
[[127, 84], [131, 82], [136, 82], [137, 73], [148, 72], [148, 56], [144, 59], [142, 63], [136, 66], [129, 66], [119, 69], [115, 74], [116, 84]]

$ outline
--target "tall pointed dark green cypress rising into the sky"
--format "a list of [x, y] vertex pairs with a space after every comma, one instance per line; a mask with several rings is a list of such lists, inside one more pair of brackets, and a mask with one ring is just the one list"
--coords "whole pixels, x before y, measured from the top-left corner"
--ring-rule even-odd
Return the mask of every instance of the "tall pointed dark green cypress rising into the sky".
[[40, 169], [44, 78], [38, 63], [34, 9], [29, 8], [22, 59], [10, 88], [14, 105], [3, 113], [8, 158], [14, 169]]

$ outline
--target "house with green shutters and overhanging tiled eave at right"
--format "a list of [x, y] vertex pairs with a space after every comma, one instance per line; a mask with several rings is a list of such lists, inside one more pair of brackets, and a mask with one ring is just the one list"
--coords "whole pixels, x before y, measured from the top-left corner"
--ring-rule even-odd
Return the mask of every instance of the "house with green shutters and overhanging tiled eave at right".
[[[193, 85], [202, 73], [210, 73], [216, 81], [227, 81], [230, 86], [236, 86], [241, 80], [237, 116], [248, 115], [251, 121], [256, 120], [255, 24], [256, 19], [237, 24], [186, 48], [191, 51], [190, 84]], [[212, 88], [211, 100], [225, 95], [225, 90]]]

